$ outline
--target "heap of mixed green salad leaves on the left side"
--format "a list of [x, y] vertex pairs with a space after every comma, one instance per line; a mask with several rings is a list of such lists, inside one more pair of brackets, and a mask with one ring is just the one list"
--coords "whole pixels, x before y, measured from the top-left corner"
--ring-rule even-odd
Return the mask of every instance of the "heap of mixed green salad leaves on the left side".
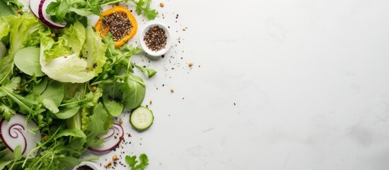
[[[101, 6], [119, 2], [122, 0], [53, 2], [48, 13], [69, 23], [67, 28], [55, 30], [30, 12], [16, 13], [21, 8], [18, 1], [0, 0], [0, 119], [23, 113], [37, 123], [33, 131], [40, 130], [43, 135], [41, 144], [26, 157], [14, 152], [12, 165], [0, 159], [0, 169], [75, 166], [88, 147], [101, 145], [103, 140], [97, 136], [106, 134], [113, 118], [125, 108], [141, 105], [145, 82], [133, 74], [133, 68], [148, 78], [157, 72], [131, 62], [140, 47], [115, 48], [112, 35], [101, 39], [87, 24], [86, 16], [99, 15]], [[157, 15], [150, 0], [133, 2], [137, 13], [148, 19]], [[147, 157], [141, 155], [140, 159]]]

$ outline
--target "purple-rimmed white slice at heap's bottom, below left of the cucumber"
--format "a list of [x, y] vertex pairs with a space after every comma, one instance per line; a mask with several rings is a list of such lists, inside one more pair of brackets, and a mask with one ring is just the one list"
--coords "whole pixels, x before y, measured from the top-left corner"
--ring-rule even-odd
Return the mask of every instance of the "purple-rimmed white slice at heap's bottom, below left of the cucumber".
[[115, 123], [112, 125], [111, 128], [109, 128], [106, 135], [97, 137], [98, 139], [103, 138], [104, 140], [101, 146], [89, 147], [88, 149], [98, 153], [108, 152], [119, 145], [120, 141], [123, 139], [123, 135], [124, 135], [124, 130], [122, 126]]

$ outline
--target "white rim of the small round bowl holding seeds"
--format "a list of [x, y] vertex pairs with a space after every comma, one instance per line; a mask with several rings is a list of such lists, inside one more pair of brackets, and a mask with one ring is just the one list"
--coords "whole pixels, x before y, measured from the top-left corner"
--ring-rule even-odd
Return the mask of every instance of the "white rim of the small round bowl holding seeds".
[[[165, 30], [165, 33], [167, 35], [167, 43], [166, 43], [166, 46], [164, 47], [164, 49], [162, 50], [159, 50], [159, 51], [153, 51], [153, 50], [150, 50], [149, 47], [146, 46], [146, 43], [145, 41], [143, 40], [143, 38], [145, 38], [145, 33], [147, 30], [149, 30], [150, 28], [153, 28], [155, 26], [158, 26], [159, 28], [162, 28]], [[163, 23], [157, 23], [157, 22], [152, 22], [152, 23], [147, 23], [145, 28], [143, 28], [142, 32], [140, 33], [140, 46], [142, 47], [142, 49], [148, 54], [148, 55], [151, 55], [151, 56], [154, 56], [154, 57], [158, 57], [158, 56], [161, 56], [161, 55], [164, 55], [167, 53], [167, 51], [170, 50], [170, 46], [171, 46], [171, 37], [170, 37], [170, 31], [169, 31], [169, 28], [167, 28], [167, 26], [165, 26]]]

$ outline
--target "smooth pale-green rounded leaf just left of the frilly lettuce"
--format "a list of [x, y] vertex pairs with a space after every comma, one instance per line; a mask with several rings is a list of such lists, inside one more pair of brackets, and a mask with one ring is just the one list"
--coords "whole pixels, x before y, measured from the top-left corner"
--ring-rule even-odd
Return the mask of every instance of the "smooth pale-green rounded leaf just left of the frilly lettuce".
[[25, 47], [16, 52], [13, 60], [22, 72], [30, 76], [35, 74], [36, 77], [42, 77], [45, 73], [40, 69], [39, 55], [38, 47]]

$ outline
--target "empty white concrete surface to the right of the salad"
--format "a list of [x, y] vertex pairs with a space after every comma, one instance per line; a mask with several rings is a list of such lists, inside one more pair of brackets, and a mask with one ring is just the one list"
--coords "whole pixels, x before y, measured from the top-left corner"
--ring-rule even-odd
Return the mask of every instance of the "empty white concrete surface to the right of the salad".
[[158, 71], [155, 120], [136, 132], [124, 114], [116, 154], [162, 170], [389, 169], [389, 1], [153, 3], [181, 43], [134, 57]]

